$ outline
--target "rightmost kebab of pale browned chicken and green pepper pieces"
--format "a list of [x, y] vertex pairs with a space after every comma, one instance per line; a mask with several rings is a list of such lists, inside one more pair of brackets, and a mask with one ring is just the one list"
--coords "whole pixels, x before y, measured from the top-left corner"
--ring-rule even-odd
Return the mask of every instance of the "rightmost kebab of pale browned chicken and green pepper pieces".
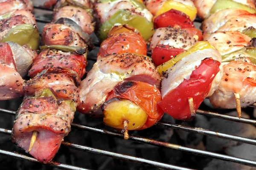
[[[208, 6], [204, 6], [206, 3], [208, 3]], [[249, 105], [252, 100], [254, 100], [254, 102], [256, 100], [255, 98], [251, 98], [253, 96], [247, 96], [247, 94], [245, 94], [242, 90], [243, 88], [247, 87], [248, 84], [244, 80], [246, 79], [244, 76], [247, 75], [247, 69], [242, 71], [240, 68], [244, 65], [246, 65], [248, 68], [254, 68], [253, 63], [256, 63], [254, 38], [254, 20], [256, 19], [255, 1], [246, 0], [243, 2], [236, 2], [235, 0], [217, 0], [211, 1], [211, 3], [209, 3], [208, 0], [196, 0], [195, 5], [198, 7], [198, 13], [201, 14], [201, 17], [208, 17], [202, 25], [204, 31], [204, 39], [209, 41], [221, 53], [222, 62], [224, 62], [222, 65], [224, 65], [225, 68], [224, 76], [221, 79], [220, 86], [218, 87], [217, 91], [210, 97], [210, 102], [217, 108], [236, 108], [240, 118], [240, 100], [242, 99], [242, 106]], [[204, 8], [207, 8], [207, 10], [203, 10], [200, 8], [200, 6], [204, 6]], [[236, 59], [239, 61], [233, 62], [233, 60]], [[228, 62], [231, 63], [229, 64]], [[227, 68], [230, 69], [229, 71], [232, 71], [232, 69], [235, 70], [235, 72], [233, 71], [232, 74], [235, 74], [235, 77], [239, 79], [239, 83], [242, 82], [240, 86], [226, 86], [227, 84], [231, 85], [232, 83], [237, 83], [237, 79], [232, 78], [233, 75], [230, 78], [227, 77], [227, 75], [230, 76], [230, 73], [227, 73]], [[241, 71], [241, 74], [236, 72], [237, 69]], [[250, 71], [250, 69], [248, 70]], [[247, 77], [250, 80], [254, 79], [254, 77], [251, 76], [252, 75], [250, 74], [250, 76]], [[218, 92], [220, 93], [218, 94]], [[226, 101], [229, 101], [230, 105], [227, 104], [227, 102], [221, 103], [223, 99], [227, 99]], [[236, 107], [234, 107], [234, 104], [236, 104]]]

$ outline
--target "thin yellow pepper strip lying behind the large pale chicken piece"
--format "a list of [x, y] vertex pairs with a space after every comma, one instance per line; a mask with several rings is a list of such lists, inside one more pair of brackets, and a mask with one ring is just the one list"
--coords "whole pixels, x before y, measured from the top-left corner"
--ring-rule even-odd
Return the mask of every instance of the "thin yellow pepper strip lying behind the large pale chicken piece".
[[168, 68], [172, 67], [172, 65], [174, 65], [176, 62], [178, 62], [183, 57], [185, 57], [189, 54], [192, 54], [195, 51], [204, 50], [204, 49], [208, 49], [208, 48], [215, 49], [209, 42], [199, 41], [193, 47], [189, 48], [188, 50], [184, 51], [183, 53], [180, 53], [179, 55], [177, 55], [176, 57], [174, 57], [174, 58], [170, 59], [169, 61], [163, 63], [162, 65], [159, 65], [157, 67], [157, 71], [159, 72], [160, 76], [162, 76], [163, 72], [168, 70]]

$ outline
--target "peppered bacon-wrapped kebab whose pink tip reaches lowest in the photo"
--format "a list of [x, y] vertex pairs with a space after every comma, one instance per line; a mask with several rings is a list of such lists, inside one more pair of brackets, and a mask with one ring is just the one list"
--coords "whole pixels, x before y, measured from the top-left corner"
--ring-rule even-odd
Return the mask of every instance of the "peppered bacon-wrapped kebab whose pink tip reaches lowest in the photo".
[[[64, 20], [67, 19], [68, 15]], [[86, 19], [81, 22], [92, 24]], [[58, 152], [61, 141], [70, 132], [79, 105], [87, 45], [79, 37], [82, 33], [73, 27], [60, 23], [45, 26], [44, 31], [50, 33], [52, 39], [47, 33], [42, 34], [44, 46], [29, 70], [32, 79], [23, 88], [25, 97], [12, 130], [12, 141], [44, 163], [49, 163]]]

